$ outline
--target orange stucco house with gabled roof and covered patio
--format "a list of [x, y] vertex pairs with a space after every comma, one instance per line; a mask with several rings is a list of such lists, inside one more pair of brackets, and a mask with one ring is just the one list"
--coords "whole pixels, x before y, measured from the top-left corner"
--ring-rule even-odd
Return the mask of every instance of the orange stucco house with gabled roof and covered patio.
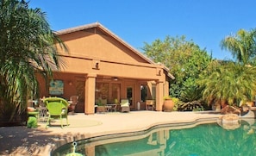
[[115, 103], [128, 99], [130, 109], [138, 110], [145, 109], [146, 99], [155, 99], [156, 110], [162, 110], [173, 78], [165, 66], [154, 63], [98, 22], [56, 34], [69, 53], [59, 48], [65, 66], [53, 72], [47, 87], [38, 77], [41, 97], [78, 95], [76, 112], [86, 115], [94, 114], [95, 104], [101, 100]]

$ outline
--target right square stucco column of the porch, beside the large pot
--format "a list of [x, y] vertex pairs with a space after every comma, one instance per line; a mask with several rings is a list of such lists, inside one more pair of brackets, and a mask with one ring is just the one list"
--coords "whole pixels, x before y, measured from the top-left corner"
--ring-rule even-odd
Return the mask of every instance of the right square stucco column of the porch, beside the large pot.
[[162, 111], [164, 103], [164, 83], [156, 82], [156, 110]]

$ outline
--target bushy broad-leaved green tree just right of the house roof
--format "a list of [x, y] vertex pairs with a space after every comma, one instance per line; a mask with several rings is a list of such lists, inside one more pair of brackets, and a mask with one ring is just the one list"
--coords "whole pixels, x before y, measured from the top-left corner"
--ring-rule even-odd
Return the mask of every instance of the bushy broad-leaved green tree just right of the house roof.
[[195, 79], [211, 60], [204, 49], [193, 41], [186, 41], [184, 35], [175, 38], [166, 36], [164, 41], [158, 39], [151, 45], [145, 43], [142, 49], [147, 57], [170, 69], [175, 77], [171, 82], [170, 94], [178, 98], [188, 88], [195, 89]]

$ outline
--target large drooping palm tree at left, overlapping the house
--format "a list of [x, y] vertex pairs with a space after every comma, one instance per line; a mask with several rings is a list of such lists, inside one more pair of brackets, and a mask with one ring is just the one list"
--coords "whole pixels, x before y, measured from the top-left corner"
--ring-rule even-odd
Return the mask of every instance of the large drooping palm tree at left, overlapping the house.
[[29, 9], [24, 0], [2, 0], [0, 8], [0, 117], [11, 121], [26, 112], [28, 98], [38, 97], [35, 74], [48, 78], [62, 65], [55, 43], [66, 47], [41, 9]]

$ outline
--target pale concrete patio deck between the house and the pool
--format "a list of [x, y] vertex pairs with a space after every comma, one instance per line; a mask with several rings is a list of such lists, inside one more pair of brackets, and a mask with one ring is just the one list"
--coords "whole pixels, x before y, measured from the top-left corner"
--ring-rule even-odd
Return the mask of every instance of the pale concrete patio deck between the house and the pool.
[[[105, 114], [69, 115], [70, 126], [53, 126], [45, 123], [38, 128], [0, 128], [1, 155], [50, 155], [50, 152], [73, 140], [82, 140], [103, 134], [117, 134], [146, 130], [155, 125], [180, 122], [197, 122], [198, 119], [216, 120], [220, 115], [210, 112], [157, 112], [131, 111]], [[64, 120], [64, 123], [66, 121]], [[58, 124], [58, 122], [53, 123]]]

